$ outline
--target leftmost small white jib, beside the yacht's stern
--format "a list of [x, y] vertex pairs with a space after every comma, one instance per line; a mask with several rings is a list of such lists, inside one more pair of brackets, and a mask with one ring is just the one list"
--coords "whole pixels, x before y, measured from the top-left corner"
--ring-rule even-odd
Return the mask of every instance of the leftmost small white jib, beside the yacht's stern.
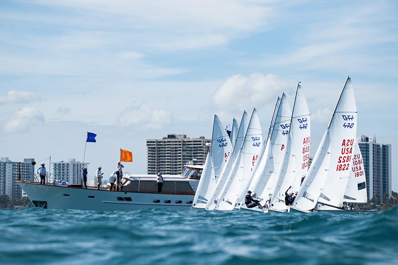
[[214, 170], [211, 165], [210, 152], [208, 152], [192, 207], [204, 209], [208, 202], [208, 198], [214, 191], [215, 185]]

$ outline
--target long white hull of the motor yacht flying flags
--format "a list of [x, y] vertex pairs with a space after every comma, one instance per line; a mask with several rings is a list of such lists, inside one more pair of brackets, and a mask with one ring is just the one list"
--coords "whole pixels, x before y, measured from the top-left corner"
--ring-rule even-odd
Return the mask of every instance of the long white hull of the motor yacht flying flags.
[[132, 211], [145, 208], [189, 210], [194, 195], [81, 189], [18, 182], [36, 207], [97, 211]]

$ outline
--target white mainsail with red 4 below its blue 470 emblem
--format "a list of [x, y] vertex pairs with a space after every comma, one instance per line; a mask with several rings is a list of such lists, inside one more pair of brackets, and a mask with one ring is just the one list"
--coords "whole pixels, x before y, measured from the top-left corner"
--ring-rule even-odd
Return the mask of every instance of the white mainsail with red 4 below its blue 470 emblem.
[[251, 187], [261, 199], [266, 199], [275, 192], [276, 177], [281, 169], [282, 158], [286, 152], [291, 118], [292, 111], [286, 95], [283, 93], [271, 134], [270, 150], [264, 171], [259, 177], [258, 183], [252, 183], [253, 187]]

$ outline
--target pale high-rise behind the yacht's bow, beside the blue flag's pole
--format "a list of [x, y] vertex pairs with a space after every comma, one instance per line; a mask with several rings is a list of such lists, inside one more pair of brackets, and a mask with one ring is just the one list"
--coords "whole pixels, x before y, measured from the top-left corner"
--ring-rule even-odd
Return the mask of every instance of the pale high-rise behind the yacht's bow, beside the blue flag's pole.
[[[83, 176], [83, 162], [76, 159], [68, 159], [68, 161], [54, 162], [53, 175], [54, 179], [66, 180], [69, 184], [81, 184]], [[90, 163], [84, 163], [87, 167]]]

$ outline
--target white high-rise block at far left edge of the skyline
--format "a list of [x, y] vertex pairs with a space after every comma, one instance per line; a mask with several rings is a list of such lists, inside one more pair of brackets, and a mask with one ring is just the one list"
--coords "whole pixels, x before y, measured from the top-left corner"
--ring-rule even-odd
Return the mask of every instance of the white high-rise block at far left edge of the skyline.
[[21, 197], [22, 189], [16, 183], [20, 174], [21, 180], [34, 180], [34, 159], [24, 159], [23, 162], [13, 162], [7, 157], [0, 158], [0, 194], [10, 198]]

